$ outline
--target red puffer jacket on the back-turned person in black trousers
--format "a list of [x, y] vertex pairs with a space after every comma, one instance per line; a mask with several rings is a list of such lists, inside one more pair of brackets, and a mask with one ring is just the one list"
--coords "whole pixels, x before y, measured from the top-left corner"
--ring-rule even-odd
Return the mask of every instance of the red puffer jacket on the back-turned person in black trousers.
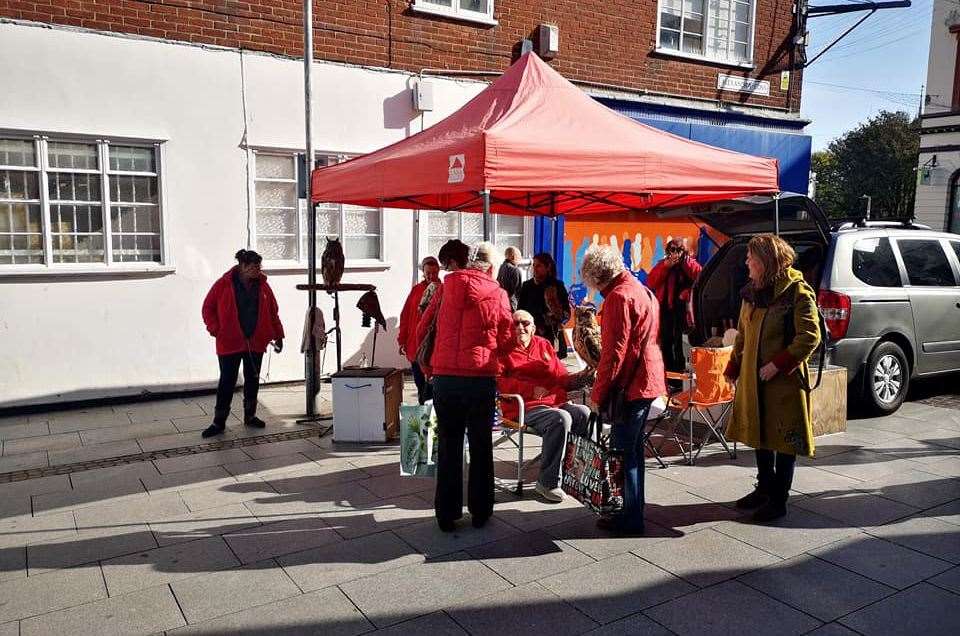
[[[439, 313], [437, 311], [439, 307]], [[486, 272], [460, 269], [443, 279], [417, 326], [417, 341], [437, 315], [437, 333], [428, 375], [493, 377], [498, 350], [513, 340], [510, 301]]]

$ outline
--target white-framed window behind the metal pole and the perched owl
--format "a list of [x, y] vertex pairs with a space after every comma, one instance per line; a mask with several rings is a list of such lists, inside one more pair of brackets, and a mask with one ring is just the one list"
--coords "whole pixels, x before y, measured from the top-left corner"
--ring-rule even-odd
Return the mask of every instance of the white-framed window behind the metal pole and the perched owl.
[[[299, 198], [299, 184], [309, 177], [300, 174], [302, 168], [295, 153], [258, 150], [253, 157], [254, 248], [266, 261], [304, 266], [310, 206]], [[347, 154], [317, 153], [316, 165], [329, 166], [350, 158]], [[318, 255], [326, 247], [326, 237], [337, 236], [348, 262], [362, 265], [384, 261], [381, 208], [321, 203], [316, 206], [316, 215]]]

